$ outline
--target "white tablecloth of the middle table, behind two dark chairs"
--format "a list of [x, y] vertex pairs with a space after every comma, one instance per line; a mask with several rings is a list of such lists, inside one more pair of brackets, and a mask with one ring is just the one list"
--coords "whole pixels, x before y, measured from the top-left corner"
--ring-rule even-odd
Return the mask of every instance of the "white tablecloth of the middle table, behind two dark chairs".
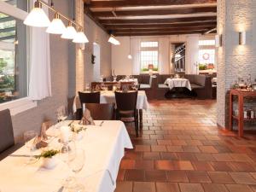
[[[101, 91], [101, 103], [115, 103], [115, 96], [112, 90]], [[79, 96], [75, 96], [73, 101], [73, 113], [81, 108]], [[148, 98], [144, 90], [138, 90], [137, 93], [137, 109], [148, 109]]]

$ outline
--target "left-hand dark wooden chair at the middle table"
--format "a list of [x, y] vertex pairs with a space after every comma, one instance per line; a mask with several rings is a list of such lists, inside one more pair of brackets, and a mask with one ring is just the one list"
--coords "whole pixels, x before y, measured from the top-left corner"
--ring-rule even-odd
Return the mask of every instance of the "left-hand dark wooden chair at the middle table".
[[79, 100], [81, 102], [81, 108], [77, 109], [75, 118], [77, 120], [82, 119], [83, 117], [83, 110], [82, 106], [83, 103], [100, 103], [101, 102], [101, 92], [79, 92]]

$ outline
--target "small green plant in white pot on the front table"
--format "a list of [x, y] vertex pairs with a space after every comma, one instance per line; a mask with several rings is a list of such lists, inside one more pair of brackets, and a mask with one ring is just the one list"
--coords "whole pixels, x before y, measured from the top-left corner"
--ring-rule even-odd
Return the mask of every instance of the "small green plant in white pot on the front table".
[[46, 169], [52, 169], [57, 165], [55, 155], [59, 154], [59, 150], [49, 149], [44, 150], [41, 154], [37, 155], [38, 159], [43, 158], [42, 166]]

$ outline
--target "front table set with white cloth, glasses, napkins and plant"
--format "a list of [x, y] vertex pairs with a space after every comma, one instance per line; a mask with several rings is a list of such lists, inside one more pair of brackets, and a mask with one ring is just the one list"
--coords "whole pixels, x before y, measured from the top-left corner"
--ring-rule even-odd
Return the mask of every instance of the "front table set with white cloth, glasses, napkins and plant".
[[113, 191], [125, 148], [133, 148], [121, 121], [93, 125], [65, 120], [24, 133], [25, 146], [0, 161], [0, 191]]

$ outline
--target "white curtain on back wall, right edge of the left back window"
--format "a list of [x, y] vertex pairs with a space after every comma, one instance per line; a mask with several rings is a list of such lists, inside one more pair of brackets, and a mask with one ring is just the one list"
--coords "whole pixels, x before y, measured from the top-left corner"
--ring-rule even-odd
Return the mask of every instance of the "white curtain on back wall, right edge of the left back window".
[[159, 72], [160, 74], [168, 74], [170, 72], [170, 44], [169, 38], [159, 39]]

